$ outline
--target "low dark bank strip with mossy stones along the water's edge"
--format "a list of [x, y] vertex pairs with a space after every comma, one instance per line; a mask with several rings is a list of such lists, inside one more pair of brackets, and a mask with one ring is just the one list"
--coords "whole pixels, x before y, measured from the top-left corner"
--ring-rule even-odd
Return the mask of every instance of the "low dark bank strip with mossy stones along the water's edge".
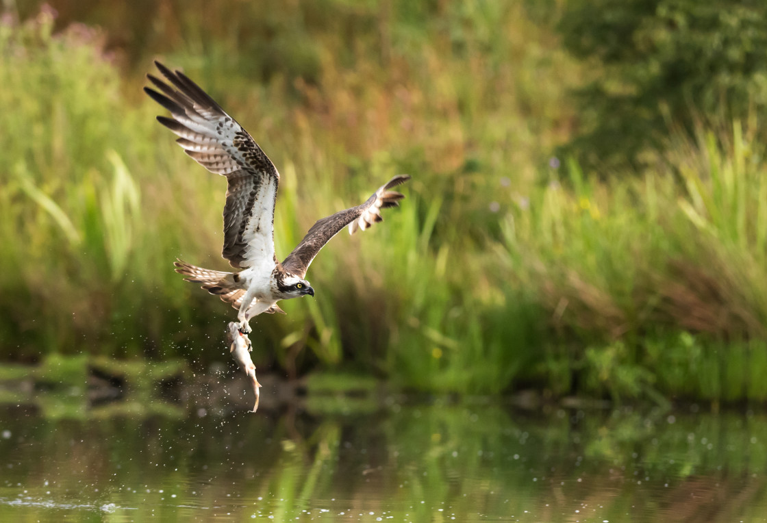
[[[283, 373], [267, 370], [257, 372], [257, 376], [262, 384], [258, 406], [258, 415], [262, 416], [278, 416], [286, 411], [351, 416], [391, 410], [393, 406], [488, 404], [531, 413], [621, 408], [647, 413], [767, 410], [767, 405], [755, 402], [669, 397], [616, 403], [593, 396], [545, 395], [534, 389], [493, 396], [433, 394], [393, 386], [359, 373], [313, 373], [290, 380]], [[0, 369], [0, 405], [31, 409], [51, 419], [175, 418], [189, 412], [225, 416], [251, 410], [254, 400], [249, 380], [229, 361], [195, 371], [183, 360], [153, 363], [54, 357], [38, 366], [8, 365]]]

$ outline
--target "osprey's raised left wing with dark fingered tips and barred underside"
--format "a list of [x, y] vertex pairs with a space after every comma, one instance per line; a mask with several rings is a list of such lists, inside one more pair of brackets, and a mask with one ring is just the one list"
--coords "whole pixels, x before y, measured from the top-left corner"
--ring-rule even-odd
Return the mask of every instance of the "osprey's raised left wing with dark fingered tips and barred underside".
[[144, 90], [173, 116], [157, 120], [179, 136], [176, 142], [186, 154], [229, 181], [222, 256], [237, 268], [272, 261], [277, 169], [248, 132], [204, 90], [182, 72], [155, 64], [171, 85], [147, 74], [161, 93], [149, 87]]

